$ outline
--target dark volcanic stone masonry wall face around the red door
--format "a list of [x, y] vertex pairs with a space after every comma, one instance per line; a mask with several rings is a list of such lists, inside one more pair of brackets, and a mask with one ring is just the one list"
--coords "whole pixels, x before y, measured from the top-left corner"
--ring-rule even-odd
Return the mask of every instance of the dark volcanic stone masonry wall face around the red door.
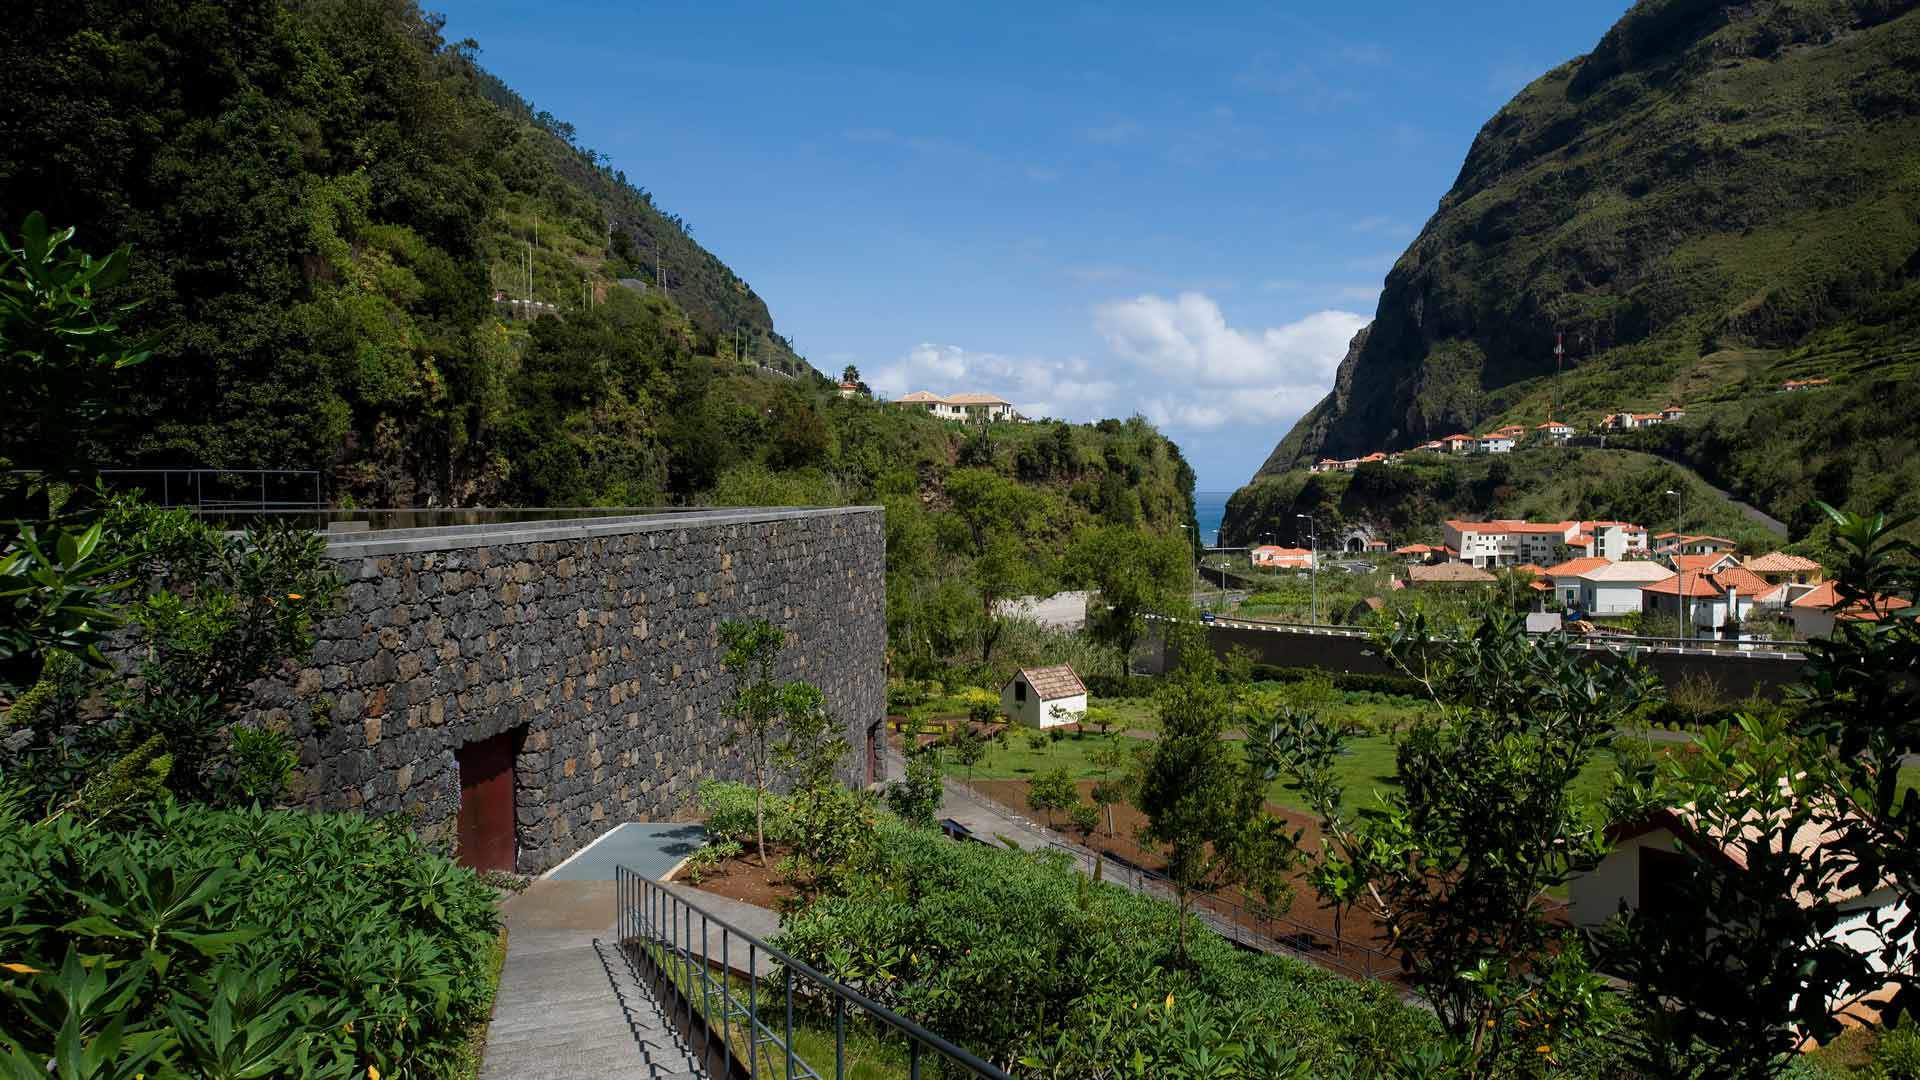
[[826, 692], [866, 780], [885, 715], [885, 528], [877, 507], [359, 532], [309, 667], [265, 688], [324, 809], [401, 813], [451, 840], [455, 751], [518, 732], [516, 869], [540, 872], [624, 821], [747, 778], [730, 746], [720, 625], [789, 634], [780, 676]]

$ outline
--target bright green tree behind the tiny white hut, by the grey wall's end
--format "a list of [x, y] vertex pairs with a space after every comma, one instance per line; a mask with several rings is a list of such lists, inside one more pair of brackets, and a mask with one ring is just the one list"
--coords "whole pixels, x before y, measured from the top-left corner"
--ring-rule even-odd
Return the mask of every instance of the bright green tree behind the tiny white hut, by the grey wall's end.
[[1119, 675], [1127, 675], [1146, 617], [1167, 611], [1192, 580], [1192, 559], [1181, 538], [1119, 525], [1075, 536], [1066, 565], [1069, 580], [1098, 592], [1089, 628], [1119, 650]]

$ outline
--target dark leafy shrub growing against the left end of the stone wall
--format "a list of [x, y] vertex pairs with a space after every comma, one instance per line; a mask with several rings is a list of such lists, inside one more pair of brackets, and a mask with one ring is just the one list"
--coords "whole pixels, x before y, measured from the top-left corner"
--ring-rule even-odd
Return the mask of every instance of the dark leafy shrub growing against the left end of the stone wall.
[[[29, 707], [10, 711], [27, 736], [0, 751], [0, 767], [50, 815], [98, 821], [163, 792], [273, 803], [298, 755], [284, 734], [242, 717], [263, 676], [313, 648], [313, 621], [340, 588], [326, 542], [286, 525], [228, 534], [125, 496], [88, 515], [94, 544], [146, 584], [109, 609], [127, 625], [119, 653], [134, 657], [134, 678], [44, 648], [38, 682], [21, 696]], [[61, 550], [84, 553], [84, 544]], [[35, 592], [60, 588], [48, 578]]]

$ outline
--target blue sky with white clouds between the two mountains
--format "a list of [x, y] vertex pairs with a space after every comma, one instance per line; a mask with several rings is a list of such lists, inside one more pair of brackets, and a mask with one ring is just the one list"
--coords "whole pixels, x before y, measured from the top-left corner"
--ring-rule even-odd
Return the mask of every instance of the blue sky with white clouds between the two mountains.
[[1200, 490], [1332, 384], [1480, 125], [1626, 0], [445, 0], [824, 371], [1154, 419]]

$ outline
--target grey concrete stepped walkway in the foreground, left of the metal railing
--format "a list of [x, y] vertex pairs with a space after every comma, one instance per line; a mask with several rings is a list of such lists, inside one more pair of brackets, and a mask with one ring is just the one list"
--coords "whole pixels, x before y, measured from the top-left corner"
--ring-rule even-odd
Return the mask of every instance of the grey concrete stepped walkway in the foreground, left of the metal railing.
[[707, 1080], [607, 930], [511, 928], [480, 1080]]

